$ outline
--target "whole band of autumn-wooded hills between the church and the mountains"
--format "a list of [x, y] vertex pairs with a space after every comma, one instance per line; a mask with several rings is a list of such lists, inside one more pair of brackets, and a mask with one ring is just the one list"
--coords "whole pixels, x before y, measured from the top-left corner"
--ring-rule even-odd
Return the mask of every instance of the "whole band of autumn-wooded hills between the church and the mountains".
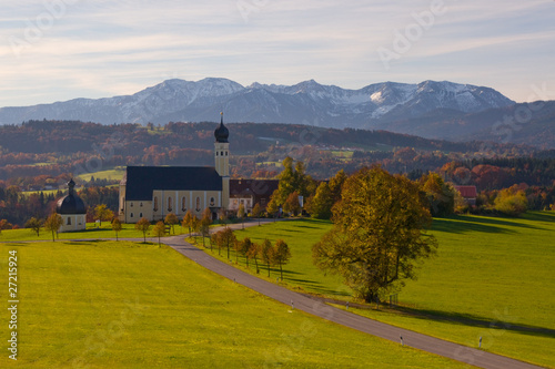
[[[536, 153], [512, 144], [452, 143], [385, 131], [254, 123], [230, 126], [230, 163], [236, 178], [276, 177], [283, 170], [279, 163], [286, 156], [302, 161], [306, 173], [319, 180], [373, 164], [413, 180], [437, 172], [447, 181], [473, 184], [481, 191], [522, 183], [551, 186], [555, 178], [555, 151]], [[141, 126], [74, 121], [0, 126], [0, 186], [56, 188], [68, 176], [90, 177], [88, 174], [127, 165], [213, 165], [214, 127], [209, 122]], [[352, 156], [335, 155], [340, 150]]]

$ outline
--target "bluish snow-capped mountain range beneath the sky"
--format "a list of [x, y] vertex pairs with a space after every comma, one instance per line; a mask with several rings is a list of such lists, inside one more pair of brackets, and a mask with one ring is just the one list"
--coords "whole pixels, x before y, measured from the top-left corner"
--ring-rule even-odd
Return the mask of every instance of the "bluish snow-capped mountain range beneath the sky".
[[386, 130], [391, 122], [434, 112], [465, 114], [513, 104], [495, 90], [452, 82], [385, 82], [346, 90], [313, 80], [291, 86], [260, 83], [243, 86], [226, 79], [169, 80], [128, 96], [2, 107], [0, 123], [47, 119], [164, 124], [215, 121], [223, 110], [228, 122]]

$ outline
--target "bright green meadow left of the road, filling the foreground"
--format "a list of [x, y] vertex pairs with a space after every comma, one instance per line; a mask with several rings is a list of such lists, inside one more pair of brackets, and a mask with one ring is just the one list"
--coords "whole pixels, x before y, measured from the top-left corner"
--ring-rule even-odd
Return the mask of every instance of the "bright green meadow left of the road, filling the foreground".
[[[18, 360], [2, 368], [463, 368], [326, 322], [168, 247], [14, 243]], [[7, 290], [2, 298], [7, 300]], [[9, 335], [8, 310], [0, 314]]]

